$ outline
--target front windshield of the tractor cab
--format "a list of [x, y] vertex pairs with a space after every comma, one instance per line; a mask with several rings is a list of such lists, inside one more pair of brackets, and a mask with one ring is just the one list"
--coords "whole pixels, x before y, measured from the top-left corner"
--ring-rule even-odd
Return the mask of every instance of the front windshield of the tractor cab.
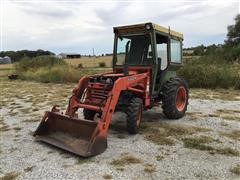
[[[128, 43], [129, 42], [129, 43]], [[129, 44], [127, 63], [129, 65], [151, 65], [152, 48], [149, 35], [121, 36], [117, 38], [116, 65], [123, 65], [126, 46]]]

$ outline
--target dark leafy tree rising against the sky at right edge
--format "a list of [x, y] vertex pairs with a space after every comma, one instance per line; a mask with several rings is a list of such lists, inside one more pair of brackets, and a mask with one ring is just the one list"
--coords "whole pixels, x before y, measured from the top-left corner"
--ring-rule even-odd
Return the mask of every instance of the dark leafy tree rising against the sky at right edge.
[[240, 14], [235, 17], [235, 24], [228, 26], [227, 46], [238, 46], [240, 44]]

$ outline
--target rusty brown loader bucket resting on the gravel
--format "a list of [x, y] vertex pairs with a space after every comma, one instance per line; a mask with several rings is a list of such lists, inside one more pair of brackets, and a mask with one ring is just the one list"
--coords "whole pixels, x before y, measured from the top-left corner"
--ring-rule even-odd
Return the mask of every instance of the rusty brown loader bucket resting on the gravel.
[[89, 157], [107, 148], [107, 139], [98, 135], [97, 124], [47, 111], [34, 136], [38, 141]]

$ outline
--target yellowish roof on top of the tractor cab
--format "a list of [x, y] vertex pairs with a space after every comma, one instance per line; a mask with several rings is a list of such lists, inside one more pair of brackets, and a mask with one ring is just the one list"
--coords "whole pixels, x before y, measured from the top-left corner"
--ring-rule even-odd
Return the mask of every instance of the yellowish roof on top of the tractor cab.
[[177, 31], [174, 31], [169, 28], [165, 28], [163, 26], [154, 24], [152, 22], [147, 22], [147, 23], [142, 23], [142, 24], [134, 24], [134, 25], [126, 25], [126, 26], [118, 26], [114, 27], [113, 30], [114, 32], [119, 32], [119, 33], [133, 33], [137, 31], [145, 31], [146, 30], [146, 25], [150, 25], [152, 29], [154, 29], [157, 32], [163, 33], [165, 35], [171, 35], [177, 38], [180, 38], [183, 40], [183, 34]]

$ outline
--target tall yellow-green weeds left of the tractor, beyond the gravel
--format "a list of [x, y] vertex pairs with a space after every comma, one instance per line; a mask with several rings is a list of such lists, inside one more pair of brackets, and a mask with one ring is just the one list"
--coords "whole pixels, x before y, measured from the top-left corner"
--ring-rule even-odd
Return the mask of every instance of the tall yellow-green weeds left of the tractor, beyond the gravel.
[[110, 71], [108, 68], [78, 68], [51, 56], [24, 58], [15, 67], [20, 79], [43, 83], [76, 83], [82, 76]]

